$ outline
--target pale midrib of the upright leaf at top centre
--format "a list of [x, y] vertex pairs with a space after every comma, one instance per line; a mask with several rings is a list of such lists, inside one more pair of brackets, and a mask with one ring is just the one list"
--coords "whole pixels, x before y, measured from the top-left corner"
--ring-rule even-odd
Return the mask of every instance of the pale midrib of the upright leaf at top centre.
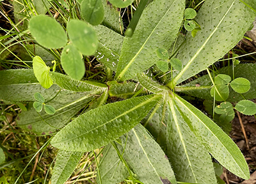
[[[175, 0], [174, 0], [175, 1]], [[127, 64], [127, 66], [124, 67], [124, 69], [122, 70], [122, 72], [116, 76], [117, 80], [120, 80], [122, 78], [122, 76], [124, 76], [124, 74], [127, 72], [127, 70], [129, 69], [129, 67], [131, 66], [131, 64], [134, 62], [134, 60], [136, 59], [136, 57], [140, 54], [141, 50], [144, 48], [144, 46], [146, 45], [148, 39], [152, 36], [152, 34], [154, 33], [154, 31], [156, 30], [156, 28], [158, 27], [158, 25], [162, 22], [163, 18], [166, 16], [166, 14], [170, 11], [170, 9], [172, 8], [172, 5], [174, 3], [174, 1], [172, 2], [172, 4], [170, 4], [170, 8], [168, 8], [168, 10], [166, 11], [166, 13], [164, 13], [163, 17], [161, 18], [161, 20], [157, 23], [157, 25], [154, 27], [154, 29], [152, 30], [152, 32], [150, 32], [150, 35], [148, 36], [148, 38], [145, 40], [145, 42], [143, 43], [143, 45], [141, 46], [140, 50], [134, 55], [134, 57], [132, 57], [132, 59], [130, 60], [130, 62]]]

